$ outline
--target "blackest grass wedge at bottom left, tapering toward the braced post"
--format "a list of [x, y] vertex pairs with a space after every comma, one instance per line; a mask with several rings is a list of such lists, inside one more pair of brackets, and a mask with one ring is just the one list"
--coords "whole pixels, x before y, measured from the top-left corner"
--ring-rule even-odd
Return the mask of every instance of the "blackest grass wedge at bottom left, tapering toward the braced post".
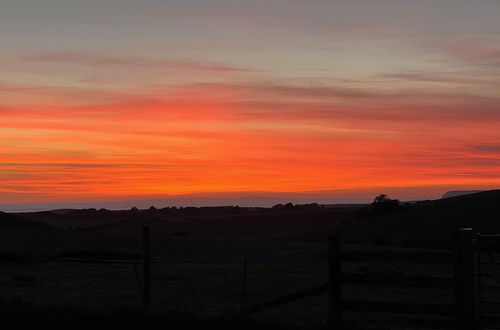
[[[13, 300], [0, 304], [2, 326], [9, 329], [269, 329], [278, 325], [249, 320], [207, 317], [178, 310], [142, 312], [136, 309], [37, 304]], [[288, 327], [287, 329], [299, 329]]]

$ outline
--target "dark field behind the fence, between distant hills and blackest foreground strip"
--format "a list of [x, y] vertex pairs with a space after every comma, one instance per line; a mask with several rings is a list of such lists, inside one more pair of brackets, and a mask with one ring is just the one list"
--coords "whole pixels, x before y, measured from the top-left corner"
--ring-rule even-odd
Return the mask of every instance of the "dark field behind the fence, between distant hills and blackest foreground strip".
[[[380, 248], [379, 248], [380, 249]], [[388, 248], [385, 248], [386, 250]], [[247, 304], [306, 289], [327, 281], [324, 247], [304, 245], [302, 250], [275, 252], [266, 260], [249, 257]], [[345, 270], [385, 274], [443, 274], [442, 265], [363, 263], [346, 264]], [[32, 260], [10, 263], [0, 273], [1, 296], [39, 305], [84, 306], [97, 310], [141, 309], [141, 264], [131, 260], [82, 262]], [[237, 319], [242, 306], [243, 260], [162, 259], [152, 265], [152, 310], [176, 311], [206, 318]], [[374, 301], [433, 301], [450, 303], [447, 289], [410, 289], [391, 286], [345, 285], [345, 297]], [[322, 328], [326, 322], [326, 294], [298, 300], [251, 314], [258, 324], [286, 328]], [[388, 322], [389, 320], [389, 322]], [[419, 320], [417, 322], [417, 320]], [[433, 325], [449, 328], [446, 319], [397, 315], [346, 314], [346, 323], [362, 329], [419, 329]]]

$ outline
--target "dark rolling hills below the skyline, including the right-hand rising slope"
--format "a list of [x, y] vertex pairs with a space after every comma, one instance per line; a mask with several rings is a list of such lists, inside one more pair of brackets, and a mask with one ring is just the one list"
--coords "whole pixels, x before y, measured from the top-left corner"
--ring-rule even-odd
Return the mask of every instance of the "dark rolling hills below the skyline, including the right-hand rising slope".
[[[404, 203], [382, 214], [367, 209], [287, 204], [274, 208], [86, 209], [22, 215], [32, 221], [71, 228], [75, 234], [89, 237], [135, 237], [141, 226], [148, 225], [155, 237], [177, 240], [322, 242], [328, 234], [336, 233], [345, 243], [449, 247], [452, 233], [460, 227], [500, 233], [500, 190]], [[17, 226], [32, 224], [24, 221], [10, 220]]]

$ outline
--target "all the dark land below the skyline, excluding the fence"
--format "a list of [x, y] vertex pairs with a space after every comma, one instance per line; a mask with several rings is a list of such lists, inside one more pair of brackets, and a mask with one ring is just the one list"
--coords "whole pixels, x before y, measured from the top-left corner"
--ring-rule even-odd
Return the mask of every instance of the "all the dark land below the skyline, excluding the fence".
[[[491, 191], [382, 213], [317, 205], [0, 213], [0, 317], [4, 324], [36, 329], [326, 329], [324, 293], [244, 318], [240, 313], [243, 304], [327, 282], [329, 234], [340, 235], [345, 251], [438, 253], [432, 249], [449, 249], [459, 227], [500, 233], [499, 201], [499, 191]], [[147, 313], [141, 306], [142, 226], [150, 227], [153, 257]], [[367, 277], [451, 276], [452, 268], [451, 261], [342, 265], [343, 271]], [[343, 298], [451, 304], [452, 286], [344, 285]], [[456, 324], [444, 315], [363, 310], [346, 312], [344, 328], [454, 329]]]

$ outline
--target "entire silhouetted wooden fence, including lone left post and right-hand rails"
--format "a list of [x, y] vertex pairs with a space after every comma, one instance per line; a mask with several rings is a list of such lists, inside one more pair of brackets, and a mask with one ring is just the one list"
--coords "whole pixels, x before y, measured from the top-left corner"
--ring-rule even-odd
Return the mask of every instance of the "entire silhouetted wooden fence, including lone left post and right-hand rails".
[[[151, 302], [150, 264], [157, 261], [150, 258], [148, 227], [142, 228], [142, 238], [142, 303], [144, 309], [148, 310]], [[495, 257], [498, 257], [497, 260]], [[69, 261], [78, 260], [70, 258]], [[105, 262], [123, 263], [119, 260], [106, 260]], [[453, 271], [449, 276], [408, 276], [381, 272], [342, 271], [342, 266], [352, 262], [358, 264], [372, 262], [445, 264], [452, 266]], [[332, 330], [342, 329], [342, 317], [345, 311], [448, 316], [454, 329], [480, 330], [484, 329], [490, 320], [500, 321], [500, 285], [487, 287], [487, 289], [498, 290], [499, 300], [484, 299], [485, 287], [481, 281], [484, 278], [494, 277], [491, 269], [485, 267], [495, 266], [500, 269], [500, 235], [481, 235], [475, 233], [472, 228], [460, 229], [456, 235], [454, 246], [449, 250], [432, 251], [341, 250], [338, 237], [329, 236], [328, 279], [325, 283], [251, 305], [247, 305], [246, 299], [247, 258], [245, 257], [241, 313], [243, 316], [247, 316], [302, 298], [327, 293], [328, 328]], [[500, 279], [498, 279], [498, 283], [500, 283]], [[343, 296], [345, 284], [448, 289], [454, 299], [450, 304], [350, 300]], [[487, 307], [491, 305], [498, 306], [496, 313], [488, 312]], [[492, 329], [491, 326], [488, 325], [488, 329]]]

